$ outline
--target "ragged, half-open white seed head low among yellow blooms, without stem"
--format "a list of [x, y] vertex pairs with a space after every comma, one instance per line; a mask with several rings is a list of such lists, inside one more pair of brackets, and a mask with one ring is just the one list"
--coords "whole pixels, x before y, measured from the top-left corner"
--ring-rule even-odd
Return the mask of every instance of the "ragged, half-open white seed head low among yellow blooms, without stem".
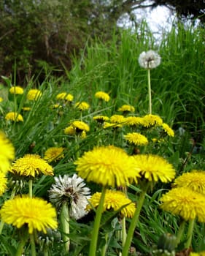
[[49, 190], [50, 201], [56, 208], [61, 208], [63, 204], [69, 207], [71, 218], [80, 219], [88, 214], [85, 210], [90, 199], [90, 189], [85, 187], [84, 180], [74, 174], [72, 177], [64, 175], [55, 177], [55, 184]]

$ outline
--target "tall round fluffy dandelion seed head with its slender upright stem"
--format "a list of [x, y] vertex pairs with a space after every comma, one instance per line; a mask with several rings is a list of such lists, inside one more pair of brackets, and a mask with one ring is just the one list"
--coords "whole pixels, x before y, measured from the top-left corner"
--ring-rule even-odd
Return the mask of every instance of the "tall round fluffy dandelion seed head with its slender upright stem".
[[150, 69], [155, 69], [160, 64], [160, 56], [154, 50], [142, 52], [139, 55], [139, 66], [147, 69], [147, 82], [148, 82], [148, 96], [149, 96], [149, 114], [152, 114], [152, 97], [151, 97], [151, 83], [150, 83]]

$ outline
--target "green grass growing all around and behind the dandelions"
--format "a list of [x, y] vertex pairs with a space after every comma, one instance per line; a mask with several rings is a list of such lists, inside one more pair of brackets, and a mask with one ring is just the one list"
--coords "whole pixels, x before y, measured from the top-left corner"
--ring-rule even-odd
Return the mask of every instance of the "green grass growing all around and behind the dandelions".
[[[205, 170], [204, 164], [204, 30], [183, 27], [173, 27], [171, 32], [164, 34], [160, 43], [156, 44], [152, 34], [146, 33], [147, 26], [142, 23], [139, 31], [121, 31], [120, 37], [113, 35], [111, 41], [103, 43], [97, 39], [88, 42], [80, 57], [73, 57], [73, 67], [70, 71], [65, 67], [65, 78], [53, 78], [49, 74], [45, 81], [39, 84], [36, 80], [28, 81], [24, 94], [16, 97], [9, 93], [11, 78], [4, 78], [0, 97], [0, 129], [4, 131], [15, 146], [15, 159], [25, 154], [45, 156], [47, 148], [63, 147], [64, 157], [52, 162], [55, 176], [75, 173], [74, 160], [81, 157], [85, 151], [95, 146], [115, 145], [123, 148], [128, 154], [133, 154], [132, 148], [123, 137], [128, 132], [141, 132], [146, 135], [149, 144], [139, 147], [141, 153], [158, 154], [166, 158], [176, 169], [177, 176], [193, 169]], [[175, 137], [164, 136], [160, 143], [152, 143], [152, 138], [158, 138], [162, 133], [158, 127], [123, 127], [104, 129], [98, 126], [93, 116], [112, 116], [122, 114], [118, 110], [122, 105], [132, 105], [135, 108], [129, 116], [144, 116], [148, 110], [147, 72], [139, 67], [138, 57], [142, 51], [154, 49], [158, 51], [162, 62], [159, 67], [151, 70], [152, 111], [174, 129]], [[38, 88], [42, 97], [36, 101], [26, 98], [30, 89]], [[56, 96], [66, 91], [74, 95], [70, 104], [57, 100]], [[95, 97], [96, 91], [109, 94], [109, 102], [100, 101]], [[80, 111], [75, 108], [77, 102], [88, 102], [90, 108]], [[59, 108], [53, 108], [59, 103]], [[23, 111], [27, 106], [31, 110]], [[23, 116], [23, 122], [7, 121], [5, 116], [10, 111], [17, 111]], [[66, 135], [64, 129], [72, 121], [81, 120], [89, 125], [90, 131], [85, 138]], [[1, 196], [1, 205], [9, 199], [12, 192], [12, 179], [8, 173], [8, 188]], [[49, 200], [47, 191], [53, 184], [53, 177], [39, 176], [34, 179], [33, 193], [36, 197]], [[28, 193], [28, 184], [19, 193]], [[91, 192], [100, 191], [100, 187], [87, 183]], [[158, 244], [163, 233], [177, 234], [179, 217], [160, 210], [160, 197], [171, 189], [171, 184], [156, 184], [145, 197], [139, 225], [136, 227], [132, 246], [137, 255], [152, 255], [152, 249]], [[132, 184], [128, 188], [128, 196], [136, 201], [139, 187]], [[93, 229], [95, 213], [79, 221], [71, 219], [71, 239], [69, 255], [88, 255], [90, 233]], [[131, 220], [127, 219], [126, 227]], [[119, 234], [121, 222], [117, 212], [107, 211], [103, 214], [100, 232], [98, 234], [98, 250], [107, 244], [107, 255], [119, 255], [122, 244]], [[187, 227], [185, 231], [187, 230]], [[44, 255], [63, 255], [61, 227], [53, 231], [47, 240], [36, 236], [36, 253]], [[41, 234], [42, 238], [45, 235]], [[52, 241], [53, 238], [53, 241]], [[8, 243], [8, 240], [10, 243]], [[183, 236], [186, 240], [186, 232]], [[15, 255], [20, 241], [20, 230], [12, 225], [4, 225], [0, 236], [0, 255]], [[183, 240], [183, 241], [184, 241]], [[9, 246], [11, 244], [11, 246]], [[204, 225], [196, 223], [193, 236], [194, 251], [205, 249]], [[180, 244], [178, 250], [183, 249]], [[25, 246], [25, 255], [30, 255], [31, 246]]]

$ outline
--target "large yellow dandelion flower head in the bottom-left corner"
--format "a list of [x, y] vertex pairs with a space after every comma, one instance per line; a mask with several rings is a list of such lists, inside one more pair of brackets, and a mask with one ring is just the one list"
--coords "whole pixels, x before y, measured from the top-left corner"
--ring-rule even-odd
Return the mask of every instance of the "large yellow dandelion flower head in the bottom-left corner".
[[15, 197], [7, 200], [0, 210], [1, 219], [17, 228], [28, 225], [28, 233], [34, 230], [47, 233], [47, 228], [58, 227], [55, 208], [37, 197]]

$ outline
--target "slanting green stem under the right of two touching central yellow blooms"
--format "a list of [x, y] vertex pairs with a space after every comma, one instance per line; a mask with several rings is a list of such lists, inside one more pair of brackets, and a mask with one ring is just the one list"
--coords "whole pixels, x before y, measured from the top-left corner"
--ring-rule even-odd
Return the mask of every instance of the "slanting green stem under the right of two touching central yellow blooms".
[[125, 245], [123, 246], [123, 253], [122, 256], [127, 256], [130, 246], [131, 246], [131, 241], [134, 235], [134, 230], [136, 228], [137, 223], [139, 222], [139, 214], [141, 212], [143, 203], [144, 203], [144, 198], [147, 192], [148, 187], [150, 186], [150, 182], [147, 182], [147, 186], [144, 188], [144, 190], [142, 190], [142, 192], [139, 195], [139, 200], [137, 202], [137, 207], [136, 207], [136, 211], [134, 213], [134, 217], [131, 220], [131, 225], [128, 229], [128, 236], [125, 240]]

